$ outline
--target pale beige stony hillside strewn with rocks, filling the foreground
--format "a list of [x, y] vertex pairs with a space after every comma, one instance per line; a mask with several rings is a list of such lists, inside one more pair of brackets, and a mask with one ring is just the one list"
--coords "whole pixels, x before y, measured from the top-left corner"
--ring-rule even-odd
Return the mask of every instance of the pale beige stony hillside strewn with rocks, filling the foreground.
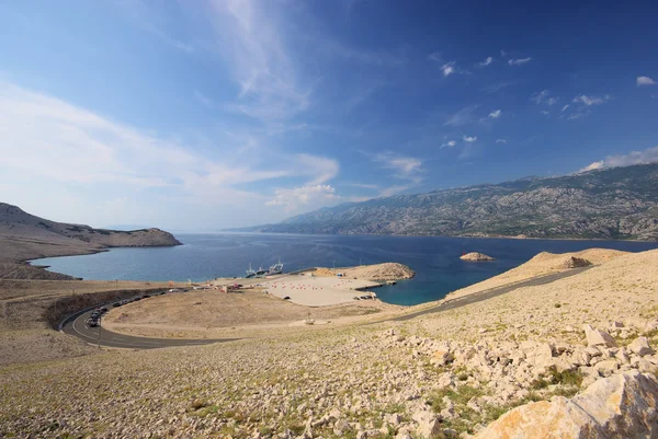
[[0, 435], [656, 437], [658, 251], [513, 278], [571, 257], [593, 266], [409, 321], [8, 365]]

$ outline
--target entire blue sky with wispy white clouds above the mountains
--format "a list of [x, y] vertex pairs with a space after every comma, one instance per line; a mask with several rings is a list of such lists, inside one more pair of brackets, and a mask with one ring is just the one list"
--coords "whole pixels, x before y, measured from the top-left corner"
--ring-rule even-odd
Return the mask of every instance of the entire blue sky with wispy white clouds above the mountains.
[[658, 159], [651, 2], [0, 3], [0, 200], [212, 231]]

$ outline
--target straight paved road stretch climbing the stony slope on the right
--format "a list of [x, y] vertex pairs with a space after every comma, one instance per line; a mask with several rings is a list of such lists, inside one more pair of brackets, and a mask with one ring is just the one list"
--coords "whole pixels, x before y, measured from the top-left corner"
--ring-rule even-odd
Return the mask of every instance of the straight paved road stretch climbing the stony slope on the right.
[[566, 277], [578, 275], [589, 268], [591, 268], [591, 266], [574, 268], [568, 272], [556, 273], [554, 275], [544, 275], [544, 276], [533, 277], [532, 279], [527, 279], [522, 282], [517, 282], [517, 284], [512, 284], [512, 285], [503, 285], [501, 287], [491, 288], [491, 289], [488, 289], [488, 290], [485, 290], [481, 292], [477, 292], [477, 293], [468, 294], [468, 296], [465, 296], [465, 297], [462, 297], [458, 299], [450, 300], [447, 302], [441, 303], [440, 305], [436, 305], [436, 307], [429, 308], [427, 310], [400, 315], [399, 317], [393, 317], [393, 319], [387, 319], [387, 320], [383, 320], [379, 322], [373, 322], [372, 324], [389, 322], [389, 321], [401, 322], [401, 321], [407, 321], [407, 320], [418, 317], [419, 315], [432, 314], [435, 312], [442, 312], [442, 311], [447, 311], [447, 310], [454, 310], [455, 308], [461, 308], [461, 307], [464, 307], [464, 305], [467, 305], [470, 303], [481, 302], [483, 300], [491, 299], [491, 298], [508, 293], [508, 292], [513, 291], [519, 288], [535, 287], [538, 285], [551, 284], [558, 279], [564, 279]]

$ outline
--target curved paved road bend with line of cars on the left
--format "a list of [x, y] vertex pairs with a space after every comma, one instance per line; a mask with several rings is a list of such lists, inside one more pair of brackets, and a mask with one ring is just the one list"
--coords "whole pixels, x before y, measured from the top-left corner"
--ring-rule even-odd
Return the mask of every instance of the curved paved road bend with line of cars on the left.
[[[223, 343], [232, 342], [239, 338], [219, 338], [219, 339], [180, 339], [180, 338], [149, 338], [149, 337], [135, 337], [132, 335], [123, 335], [113, 333], [105, 328], [89, 327], [84, 323], [91, 315], [91, 311], [88, 311], [70, 322], [61, 328], [67, 334], [75, 335], [81, 338], [83, 342], [95, 345], [99, 342], [99, 332], [101, 346], [103, 347], [118, 347], [126, 349], [155, 349], [159, 347], [172, 347], [172, 346], [198, 346], [208, 345], [211, 343]], [[102, 323], [102, 321], [101, 321]]]

